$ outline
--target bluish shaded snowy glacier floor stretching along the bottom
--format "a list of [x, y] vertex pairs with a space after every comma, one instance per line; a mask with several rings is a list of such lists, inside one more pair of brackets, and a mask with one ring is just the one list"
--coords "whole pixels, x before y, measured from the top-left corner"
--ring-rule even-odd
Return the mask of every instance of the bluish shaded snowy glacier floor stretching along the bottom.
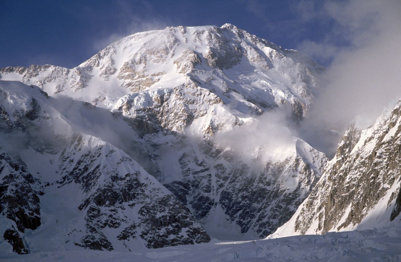
[[243, 242], [144, 249], [134, 252], [52, 251], [1, 256], [2, 261], [400, 261], [401, 227], [330, 232]]

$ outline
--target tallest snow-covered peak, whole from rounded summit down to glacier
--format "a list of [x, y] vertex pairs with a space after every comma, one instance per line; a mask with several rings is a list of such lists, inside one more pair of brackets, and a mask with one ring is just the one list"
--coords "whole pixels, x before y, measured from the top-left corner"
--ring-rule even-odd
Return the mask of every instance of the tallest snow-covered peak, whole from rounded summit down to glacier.
[[[99, 137], [137, 161], [211, 236], [253, 239], [290, 219], [328, 158], [292, 135], [282, 141], [286, 147], [279, 157], [261, 144], [244, 157], [215, 137], [240, 128], [250, 130], [249, 139], [261, 116], [273, 111], [283, 112], [277, 121], [302, 121], [323, 70], [295, 50], [225, 24], [137, 33], [74, 69], [6, 67], [0, 77], [112, 111], [135, 131], [88, 116], [88, 110], [69, 110], [76, 103], [55, 106], [73, 130]], [[261, 157], [261, 150], [268, 156]]]

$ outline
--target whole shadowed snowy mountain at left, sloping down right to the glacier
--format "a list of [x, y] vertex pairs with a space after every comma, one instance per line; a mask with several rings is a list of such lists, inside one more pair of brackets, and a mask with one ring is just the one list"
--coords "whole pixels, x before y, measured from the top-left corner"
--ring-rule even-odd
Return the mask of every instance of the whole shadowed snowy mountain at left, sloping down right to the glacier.
[[210, 240], [189, 210], [126, 153], [73, 131], [55, 109], [63, 101], [20, 82], [1, 81], [0, 93], [0, 234], [14, 252]]

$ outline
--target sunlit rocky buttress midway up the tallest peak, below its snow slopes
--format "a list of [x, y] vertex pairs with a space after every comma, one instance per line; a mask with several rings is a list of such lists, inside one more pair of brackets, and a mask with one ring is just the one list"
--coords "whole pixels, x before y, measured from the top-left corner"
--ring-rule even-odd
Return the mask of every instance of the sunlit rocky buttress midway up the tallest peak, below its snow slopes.
[[[207, 89], [188, 83], [170, 90], [127, 95], [117, 101], [114, 111], [122, 111], [124, 116], [133, 119], [144, 119], [152, 124], [153, 130], [183, 133], [194, 120], [210, 113], [208, 111], [216, 104], [222, 104], [219, 97]], [[201, 126], [199, 133], [205, 133], [205, 129], [207, 127]]]

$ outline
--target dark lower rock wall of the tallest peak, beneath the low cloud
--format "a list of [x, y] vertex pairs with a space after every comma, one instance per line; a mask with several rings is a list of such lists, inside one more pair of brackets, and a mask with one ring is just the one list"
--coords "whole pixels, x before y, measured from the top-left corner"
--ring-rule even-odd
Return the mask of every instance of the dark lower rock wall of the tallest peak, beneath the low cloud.
[[[178, 159], [170, 156], [170, 167], [174, 169], [177, 162], [181, 172], [160, 180], [217, 237], [227, 234], [228, 228], [231, 238], [271, 234], [294, 214], [327, 161], [323, 153], [300, 139], [294, 142], [293, 155], [261, 168], [248, 165], [230, 151], [205, 148], [203, 155], [188, 149], [177, 154]], [[164, 175], [167, 167], [163, 161], [159, 166]], [[218, 220], [223, 222], [217, 224]]]

